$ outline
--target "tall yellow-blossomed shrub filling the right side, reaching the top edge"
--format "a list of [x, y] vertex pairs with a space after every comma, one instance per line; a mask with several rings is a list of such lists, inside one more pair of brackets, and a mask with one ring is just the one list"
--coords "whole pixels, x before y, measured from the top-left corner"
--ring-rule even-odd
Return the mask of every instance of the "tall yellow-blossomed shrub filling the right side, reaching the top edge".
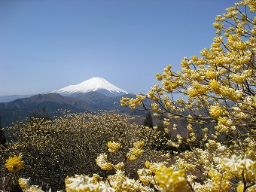
[[[185, 134], [172, 134], [167, 142], [175, 148], [186, 143], [190, 150], [175, 157], [172, 169], [163, 167], [162, 178], [156, 180], [161, 191], [178, 191], [172, 178], [176, 169], [188, 184], [181, 184], [187, 186], [182, 191], [256, 189], [256, 17], [250, 18], [255, 11], [253, 0], [227, 8], [226, 14], [216, 17], [217, 36], [201, 56], [184, 57], [181, 72], [166, 66], [163, 74], [156, 75], [161, 84], [146, 96], [120, 101], [123, 106], [143, 107], [156, 117], [164, 116], [170, 133], [181, 128], [178, 120], [189, 122]], [[144, 105], [147, 98], [153, 101], [151, 106]]]

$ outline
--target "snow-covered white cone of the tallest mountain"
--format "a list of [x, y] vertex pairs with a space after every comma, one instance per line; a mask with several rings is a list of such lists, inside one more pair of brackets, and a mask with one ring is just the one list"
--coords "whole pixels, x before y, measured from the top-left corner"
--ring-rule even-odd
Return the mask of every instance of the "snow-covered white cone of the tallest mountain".
[[109, 83], [104, 78], [90, 78], [80, 84], [69, 85], [59, 90], [53, 90], [52, 93], [59, 93], [62, 96], [69, 96], [75, 93], [99, 92], [106, 96], [121, 96], [128, 92], [121, 90], [114, 84]]

